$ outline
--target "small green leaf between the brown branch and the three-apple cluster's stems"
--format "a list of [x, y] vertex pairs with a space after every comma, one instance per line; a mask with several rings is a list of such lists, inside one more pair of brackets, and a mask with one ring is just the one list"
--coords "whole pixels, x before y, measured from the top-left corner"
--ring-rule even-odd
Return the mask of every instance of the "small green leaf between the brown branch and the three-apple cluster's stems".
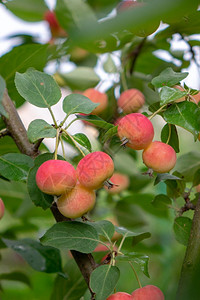
[[37, 119], [29, 124], [27, 134], [30, 142], [35, 143], [42, 138], [54, 138], [56, 136], [56, 129], [46, 121]]

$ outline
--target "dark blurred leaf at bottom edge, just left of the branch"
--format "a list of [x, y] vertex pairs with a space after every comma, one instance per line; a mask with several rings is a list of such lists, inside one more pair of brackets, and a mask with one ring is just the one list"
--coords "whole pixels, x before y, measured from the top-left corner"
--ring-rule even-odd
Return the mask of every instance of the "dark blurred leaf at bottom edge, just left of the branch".
[[87, 289], [86, 282], [74, 259], [67, 261], [64, 270], [68, 273], [65, 279], [58, 275], [54, 281], [51, 300], [77, 300]]

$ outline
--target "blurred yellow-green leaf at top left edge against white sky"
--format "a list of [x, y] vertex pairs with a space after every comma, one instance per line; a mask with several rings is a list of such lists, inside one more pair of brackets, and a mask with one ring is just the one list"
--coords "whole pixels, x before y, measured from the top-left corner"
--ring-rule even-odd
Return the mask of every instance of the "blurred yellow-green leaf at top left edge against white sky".
[[5, 5], [17, 17], [29, 22], [42, 21], [45, 11], [48, 10], [43, 0], [14, 0], [7, 1]]

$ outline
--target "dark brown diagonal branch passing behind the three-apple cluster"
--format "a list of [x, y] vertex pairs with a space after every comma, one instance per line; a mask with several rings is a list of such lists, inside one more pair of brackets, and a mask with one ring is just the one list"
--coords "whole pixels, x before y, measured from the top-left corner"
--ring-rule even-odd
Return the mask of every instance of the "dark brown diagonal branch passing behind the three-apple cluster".
[[[12, 100], [8, 96], [7, 91], [4, 93], [2, 103], [8, 114], [8, 118], [3, 117], [4, 122], [7, 126], [7, 129], [9, 130], [12, 138], [14, 139], [17, 147], [19, 148], [20, 152], [24, 153], [26, 155], [29, 155], [31, 157], [36, 157], [37, 155], [39, 155], [37, 146], [39, 146], [41, 141], [38, 141], [38, 143], [36, 143], [36, 144], [31, 144], [28, 141], [26, 129], [18, 115], [18, 112], [17, 112]], [[52, 205], [51, 211], [57, 222], [70, 220], [61, 215], [61, 213], [57, 209], [56, 205]], [[93, 259], [93, 256], [91, 254], [84, 254], [84, 253], [80, 253], [80, 252], [74, 251], [74, 250], [71, 252], [72, 252], [72, 255], [73, 255], [88, 287], [89, 287], [90, 274], [96, 267], [96, 263]], [[90, 289], [90, 287], [89, 287], [89, 289]], [[94, 294], [92, 293], [92, 291], [91, 291], [91, 294], [92, 294], [91, 299], [94, 299]]]

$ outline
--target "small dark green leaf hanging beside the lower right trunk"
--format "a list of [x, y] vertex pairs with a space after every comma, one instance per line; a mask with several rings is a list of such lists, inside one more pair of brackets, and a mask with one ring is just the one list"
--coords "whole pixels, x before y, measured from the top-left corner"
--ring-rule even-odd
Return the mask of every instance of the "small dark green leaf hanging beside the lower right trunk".
[[174, 233], [176, 240], [184, 246], [187, 246], [192, 220], [187, 217], [178, 217], [174, 220]]

